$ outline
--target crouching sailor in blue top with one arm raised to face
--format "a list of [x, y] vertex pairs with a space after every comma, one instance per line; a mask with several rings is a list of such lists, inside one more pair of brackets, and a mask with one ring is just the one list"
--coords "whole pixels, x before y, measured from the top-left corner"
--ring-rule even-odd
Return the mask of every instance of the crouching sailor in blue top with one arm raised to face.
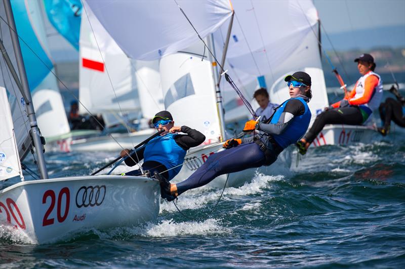
[[[146, 146], [131, 153], [125, 163], [128, 166], [134, 166], [144, 160], [143, 170], [148, 170], [152, 175], [156, 171], [167, 180], [171, 180], [180, 172], [187, 150], [203, 143], [206, 137], [187, 126], [174, 126], [172, 114], [166, 110], [156, 113], [152, 123], [158, 131], [164, 129], [165, 132], [150, 140]], [[177, 132], [185, 134], [177, 134]], [[129, 151], [129, 149], [122, 150], [121, 157], [127, 157]], [[140, 170], [134, 170], [123, 175], [141, 174]]]

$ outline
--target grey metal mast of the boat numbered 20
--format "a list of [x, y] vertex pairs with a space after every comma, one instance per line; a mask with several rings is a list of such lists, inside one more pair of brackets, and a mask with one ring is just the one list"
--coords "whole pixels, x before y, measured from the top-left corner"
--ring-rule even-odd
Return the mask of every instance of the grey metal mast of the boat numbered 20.
[[11, 9], [10, 0], [4, 0], [4, 8], [6, 11], [7, 21], [10, 27], [11, 40], [13, 42], [13, 49], [17, 60], [18, 72], [20, 74], [22, 90], [20, 89], [22, 95], [24, 96], [25, 103], [27, 105], [28, 119], [31, 126], [31, 136], [34, 142], [35, 151], [37, 155], [39, 173], [42, 179], [47, 179], [48, 170], [45, 164], [43, 145], [41, 142], [41, 136], [39, 135], [39, 129], [36, 123], [34, 106], [31, 101], [31, 93], [29, 92], [27, 74], [25, 73], [24, 61], [21, 54], [20, 42], [17, 35], [17, 27], [14, 21], [13, 11]]

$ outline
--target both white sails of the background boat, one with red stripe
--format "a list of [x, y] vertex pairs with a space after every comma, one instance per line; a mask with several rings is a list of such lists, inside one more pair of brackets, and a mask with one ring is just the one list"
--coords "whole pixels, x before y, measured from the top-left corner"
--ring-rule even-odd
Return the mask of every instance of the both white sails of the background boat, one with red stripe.
[[[163, 109], [158, 61], [129, 59], [86, 2], [84, 5], [79, 47], [80, 101], [92, 113], [126, 111], [136, 116], [130, 118], [134, 119], [141, 109], [143, 118], [151, 119]], [[80, 112], [87, 111], [81, 106]], [[108, 126], [124, 119], [105, 116], [104, 120]]]

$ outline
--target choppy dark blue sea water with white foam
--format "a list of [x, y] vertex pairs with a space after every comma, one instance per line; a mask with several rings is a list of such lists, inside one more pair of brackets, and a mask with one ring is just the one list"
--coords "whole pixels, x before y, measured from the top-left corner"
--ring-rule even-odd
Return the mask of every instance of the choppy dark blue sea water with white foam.
[[[179, 197], [181, 213], [161, 202], [157, 220], [143, 226], [49, 245], [0, 227], [0, 267], [403, 268], [404, 134], [393, 127], [369, 144], [294, 152], [291, 175], [256, 174], [225, 188], [214, 211], [222, 189], [204, 188]], [[88, 175], [117, 155], [49, 152], [46, 160], [51, 177]]]

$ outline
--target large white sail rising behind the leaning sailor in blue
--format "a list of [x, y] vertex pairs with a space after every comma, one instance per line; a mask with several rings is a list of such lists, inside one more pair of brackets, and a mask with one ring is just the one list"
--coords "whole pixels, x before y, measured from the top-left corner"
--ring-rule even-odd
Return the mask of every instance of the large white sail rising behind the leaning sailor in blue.
[[[311, 1], [235, 1], [234, 21], [226, 55], [225, 69], [242, 89], [264, 76], [271, 102], [289, 98], [284, 76], [295, 71], [308, 72], [312, 78], [312, 114], [328, 105], [325, 80], [317, 42], [317, 11]], [[221, 56], [227, 24], [214, 33]], [[316, 34], [315, 34], [316, 33]], [[276, 84], [276, 85], [274, 85]], [[273, 86], [272, 86], [273, 85]], [[221, 88], [230, 90], [222, 81]], [[247, 87], [252, 98], [255, 87]]]

